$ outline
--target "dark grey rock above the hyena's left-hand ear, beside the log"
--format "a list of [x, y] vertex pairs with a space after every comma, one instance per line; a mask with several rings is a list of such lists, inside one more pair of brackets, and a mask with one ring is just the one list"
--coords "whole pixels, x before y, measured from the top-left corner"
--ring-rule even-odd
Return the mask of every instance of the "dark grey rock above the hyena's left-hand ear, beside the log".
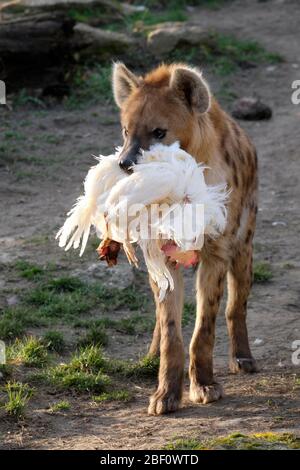
[[123, 33], [93, 28], [85, 23], [77, 23], [74, 26], [73, 46], [87, 54], [119, 52], [133, 44], [134, 39]]

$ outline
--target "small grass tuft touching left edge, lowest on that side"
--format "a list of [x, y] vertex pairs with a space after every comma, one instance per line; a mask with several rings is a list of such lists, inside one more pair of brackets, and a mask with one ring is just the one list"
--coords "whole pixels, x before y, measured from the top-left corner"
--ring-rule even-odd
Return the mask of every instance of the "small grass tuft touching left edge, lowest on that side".
[[21, 382], [8, 382], [3, 390], [7, 395], [7, 400], [3, 406], [6, 413], [16, 419], [23, 418], [26, 405], [33, 394], [33, 389], [28, 384]]

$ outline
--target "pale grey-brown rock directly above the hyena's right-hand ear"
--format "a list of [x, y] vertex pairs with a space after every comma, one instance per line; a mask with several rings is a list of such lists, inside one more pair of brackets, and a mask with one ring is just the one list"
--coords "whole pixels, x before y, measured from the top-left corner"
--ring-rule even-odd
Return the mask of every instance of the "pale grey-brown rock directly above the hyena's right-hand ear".
[[199, 26], [187, 23], [168, 23], [158, 25], [148, 35], [149, 49], [155, 55], [164, 55], [175, 49], [179, 44], [197, 45], [208, 38], [207, 31]]

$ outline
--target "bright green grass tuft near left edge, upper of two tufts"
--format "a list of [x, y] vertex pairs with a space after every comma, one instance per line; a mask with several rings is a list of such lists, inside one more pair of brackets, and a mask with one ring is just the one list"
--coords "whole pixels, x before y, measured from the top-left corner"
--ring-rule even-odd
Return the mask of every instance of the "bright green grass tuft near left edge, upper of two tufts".
[[30, 336], [16, 339], [7, 348], [7, 360], [27, 367], [43, 367], [48, 362], [48, 353], [41, 340]]

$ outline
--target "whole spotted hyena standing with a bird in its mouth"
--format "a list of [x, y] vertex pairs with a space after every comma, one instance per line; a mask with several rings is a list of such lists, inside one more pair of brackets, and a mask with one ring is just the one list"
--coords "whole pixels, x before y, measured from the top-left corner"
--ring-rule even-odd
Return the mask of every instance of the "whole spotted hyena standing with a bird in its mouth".
[[[230, 370], [254, 372], [247, 326], [247, 299], [252, 284], [252, 240], [257, 213], [257, 156], [245, 132], [212, 96], [196, 68], [161, 65], [140, 77], [117, 63], [113, 91], [121, 111], [124, 147], [120, 166], [138, 163], [140, 149], [155, 142], [181, 147], [206, 170], [207, 183], [226, 181], [231, 193], [228, 222], [217, 240], [207, 239], [197, 274], [197, 318], [190, 344], [190, 399], [209, 403], [222, 397], [213, 375], [215, 321], [227, 276], [226, 320]], [[156, 326], [150, 354], [160, 354], [159, 383], [148, 412], [159, 415], [178, 408], [183, 389], [184, 347], [181, 332], [183, 283], [170, 264], [175, 289], [163, 302], [150, 280], [156, 302]]]

